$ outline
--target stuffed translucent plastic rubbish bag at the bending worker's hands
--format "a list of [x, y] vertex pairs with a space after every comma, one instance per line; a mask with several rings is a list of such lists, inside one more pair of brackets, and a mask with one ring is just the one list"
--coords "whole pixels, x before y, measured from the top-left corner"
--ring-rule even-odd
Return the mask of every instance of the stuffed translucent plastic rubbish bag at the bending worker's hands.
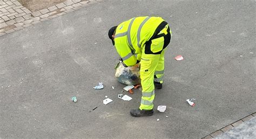
[[114, 67], [116, 70], [115, 77], [119, 82], [125, 85], [137, 85], [140, 84], [140, 74], [139, 74], [139, 63], [130, 66], [130, 67], [124, 67], [122, 64], [122, 61], [119, 61]]

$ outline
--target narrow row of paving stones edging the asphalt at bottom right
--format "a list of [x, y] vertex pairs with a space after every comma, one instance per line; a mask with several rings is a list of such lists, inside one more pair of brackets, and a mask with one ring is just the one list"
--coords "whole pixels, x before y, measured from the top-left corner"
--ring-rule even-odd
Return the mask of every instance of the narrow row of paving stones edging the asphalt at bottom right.
[[250, 114], [248, 116], [245, 116], [245, 117], [243, 117], [242, 119], [240, 119], [238, 121], [235, 121], [235, 122], [233, 122], [231, 124], [228, 124], [226, 127], [221, 128], [221, 129], [219, 129], [217, 131], [214, 131], [213, 133], [211, 133], [209, 135], [206, 135], [206, 136], [204, 136], [202, 138], [204, 138], [204, 139], [206, 139], [206, 138], [214, 138], [214, 137], [216, 137], [216, 136], [218, 136], [218, 135], [220, 135], [222, 133], [227, 132], [228, 130], [232, 129], [233, 127], [239, 126], [241, 123], [246, 122], [246, 121], [252, 119], [255, 116], [256, 116], [256, 112], [252, 113], [252, 114]]

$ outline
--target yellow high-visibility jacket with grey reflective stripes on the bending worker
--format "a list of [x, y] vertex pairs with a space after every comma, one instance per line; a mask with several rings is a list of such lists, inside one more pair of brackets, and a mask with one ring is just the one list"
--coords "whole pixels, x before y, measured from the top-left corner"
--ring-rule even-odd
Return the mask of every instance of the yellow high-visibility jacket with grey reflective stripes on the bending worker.
[[140, 61], [145, 43], [163, 22], [161, 17], [134, 17], [117, 26], [114, 46], [126, 66]]

